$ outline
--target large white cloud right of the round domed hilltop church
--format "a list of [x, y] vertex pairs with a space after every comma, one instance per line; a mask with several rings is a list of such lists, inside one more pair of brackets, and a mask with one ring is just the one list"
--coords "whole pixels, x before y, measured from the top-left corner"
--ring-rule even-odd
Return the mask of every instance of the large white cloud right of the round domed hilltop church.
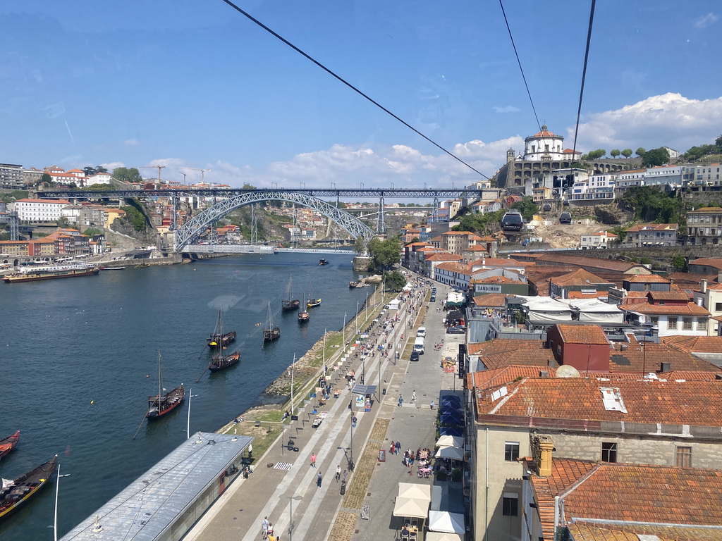
[[[719, 135], [722, 97], [692, 100], [670, 92], [587, 116], [587, 122], [579, 126], [578, 149], [670, 146], [686, 151], [691, 146], [712, 143]], [[567, 128], [567, 132], [570, 146], [574, 127]]]

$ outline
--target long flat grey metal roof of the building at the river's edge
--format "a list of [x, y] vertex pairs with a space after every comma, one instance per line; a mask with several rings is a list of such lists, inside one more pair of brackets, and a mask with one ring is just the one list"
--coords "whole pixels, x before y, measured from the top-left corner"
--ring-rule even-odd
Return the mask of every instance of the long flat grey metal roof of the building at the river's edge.
[[[240, 462], [240, 454], [251, 441], [250, 436], [196, 432], [61, 541], [159, 539], [219, 475]], [[96, 516], [102, 528], [99, 532], [94, 531]]]

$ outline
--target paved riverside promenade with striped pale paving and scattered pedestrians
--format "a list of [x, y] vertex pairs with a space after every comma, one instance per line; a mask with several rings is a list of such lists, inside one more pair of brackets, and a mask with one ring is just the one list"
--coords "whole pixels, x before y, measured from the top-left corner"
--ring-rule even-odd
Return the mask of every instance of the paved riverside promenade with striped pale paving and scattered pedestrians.
[[[437, 298], [445, 299], [446, 286], [436, 285]], [[392, 341], [401, 346], [401, 359], [378, 354], [362, 361], [352, 353], [329, 379], [334, 388], [343, 388], [338, 399], [331, 398], [321, 408], [316, 399], [297, 412], [298, 421], [284, 426], [284, 433], [261, 457], [255, 457], [253, 473], [238, 480], [218, 499], [184, 541], [252, 541], [261, 539], [261, 521], [268, 516], [275, 535], [283, 541], [393, 540], [401, 519], [392, 516], [399, 482], [434, 483], [433, 478], [419, 479], [401, 463], [404, 449], [416, 452], [419, 447], [434, 448], [436, 410], [441, 390], [461, 395], [461, 381], [456, 374], [444, 374], [440, 352], [433, 344], [463, 342], [463, 335], [445, 335], [440, 304], [424, 302], [429, 286], [419, 285], [412, 294], [416, 299], [404, 302], [399, 322], [391, 333], [380, 336], [378, 326], [373, 340]], [[413, 307], [409, 313], [409, 307]], [[409, 326], [409, 324], [411, 326]], [[420, 361], [410, 362], [409, 353], [419, 326], [427, 329], [426, 352]], [[401, 335], [404, 339], [401, 340]], [[352, 393], [344, 387], [346, 370], [355, 370], [357, 378], [365, 371], [365, 384], [379, 385], [372, 398], [370, 412], [349, 410]], [[359, 381], [357, 380], [357, 383]], [[412, 394], [416, 391], [416, 403]], [[399, 395], [404, 402], [399, 406]], [[380, 399], [380, 400], [379, 400]], [[312, 427], [313, 407], [328, 412], [318, 428]], [[355, 404], [354, 404], [355, 406]], [[356, 415], [357, 426], [352, 427]], [[298, 452], [285, 447], [293, 439]], [[391, 441], [400, 441], [401, 454], [388, 452]], [[379, 462], [379, 450], [386, 451], [386, 462]], [[310, 455], [316, 454], [316, 467]], [[349, 470], [349, 461], [355, 469]], [[340, 494], [336, 467], [347, 471], [347, 489]], [[322, 482], [318, 486], [318, 472]], [[443, 482], [447, 483], [447, 482]], [[362, 506], [368, 506], [369, 518], [361, 518]]]

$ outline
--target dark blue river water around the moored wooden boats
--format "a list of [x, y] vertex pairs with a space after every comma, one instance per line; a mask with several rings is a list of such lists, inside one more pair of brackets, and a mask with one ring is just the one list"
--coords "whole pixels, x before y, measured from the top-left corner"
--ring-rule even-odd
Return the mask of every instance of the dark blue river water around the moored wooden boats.
[[[17, 449], [0, 462], [13, 479], [58, 454], [61, 478], [58, 537], [116, 495], [191, 434], [215, 431], [257, 403], [293, 361], [339, 330], [373, 289], [349, 290], [356, 278], [349, 255], [241, 255], [187, 265], [126, 268], [75, 280], [0, 284], [0, 437], [20, 430]], [[280, 313], [293, 277], [294, 298], [321, 297], [311, 320]], [[262, 347], [271, 302], [281, 338]], [[225, 330], [236, 330], [239, 364], [206, 372], [204, 350], [219, 307]], [[256, 325], [260, 323], [261, 325]], [[157, 393], [158, 351], [163, 386], [186, 386], [186, 404], [144, 423]], [[0, 524], [3, 541], [52, 540], [55, 485]]]

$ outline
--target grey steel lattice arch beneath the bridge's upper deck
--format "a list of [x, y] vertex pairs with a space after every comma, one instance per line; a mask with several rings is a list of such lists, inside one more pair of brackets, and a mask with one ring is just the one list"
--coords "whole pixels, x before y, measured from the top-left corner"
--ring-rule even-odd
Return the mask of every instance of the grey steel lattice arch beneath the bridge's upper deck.
[[326, 201], [313, 197], [313, 195], [285, 192], [284, 190], [258, 190], [224, 199], [206, 208], [206, 210], [200, 214], [193, 216], [193, 218], [175, 231], [175, 251], [181, 252], [183, 247], [193, 244], [201, 234], [206, 232], [209, 226], [223, 216], [235, 211], [236, 208], [251, 205], [252, 203], [261, 203], [263, 201], [287, 201], [287, 203], [297, 203], [298, 205], [312, 208], [314, 211], [326, 216], [329, 220], [335, 221], [336, 224], [339, 224], [344, 231], [355, 239], [363, 237], [365, 241], [368, 242], [375, 235], [373, 229], [355, 216], [326, 203]]

